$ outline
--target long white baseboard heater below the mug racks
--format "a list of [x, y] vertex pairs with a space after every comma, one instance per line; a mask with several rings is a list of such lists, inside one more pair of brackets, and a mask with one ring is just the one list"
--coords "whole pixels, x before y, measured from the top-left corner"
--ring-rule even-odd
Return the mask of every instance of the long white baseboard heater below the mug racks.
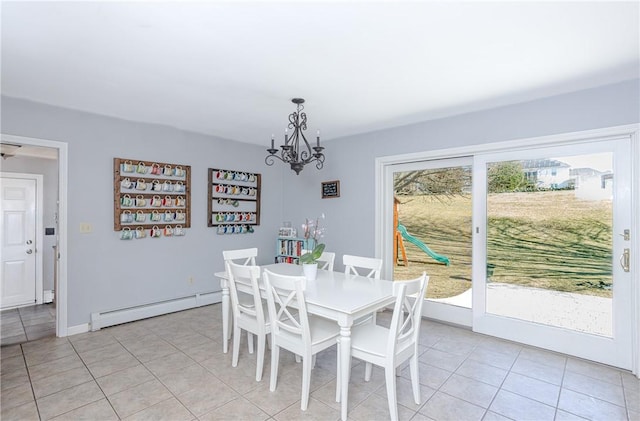
[[188, 310], [209, 304], [219, 303], [222, 300], [221, 292], [208, 292], [195, 294], [188, 297], [175, 298], [166, 301], [143, 304], [118, 310], [91, 313], [91, 331], [100, 330], [103, 327], [147, 319], [162, 314]]

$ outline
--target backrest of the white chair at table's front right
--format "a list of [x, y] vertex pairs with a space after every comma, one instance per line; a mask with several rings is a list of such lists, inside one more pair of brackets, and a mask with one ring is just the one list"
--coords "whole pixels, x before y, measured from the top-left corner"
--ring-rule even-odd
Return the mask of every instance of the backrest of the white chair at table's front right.
[[[407, 349], [410, 345], [415, 346], [418, 343], [422, 304], [428, 283], [429, 277], [426, 272], [422, 272], [419, 278], [393, 283], [396, 301], [389, 326], [387, 355], [393, 355], [397, 351]], [[409, 298], [414, 294], [415, 298]]]

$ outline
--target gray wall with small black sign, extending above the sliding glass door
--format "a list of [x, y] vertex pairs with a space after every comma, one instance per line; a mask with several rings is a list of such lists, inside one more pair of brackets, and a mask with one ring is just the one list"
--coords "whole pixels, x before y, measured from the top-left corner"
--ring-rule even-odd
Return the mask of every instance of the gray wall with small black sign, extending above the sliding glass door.
[[[326, 215], [324, 242], [337, 253], [373, 256], [375, 159], [640, 122], [640, 80], [325, 142], [322, 171], [287, 178], [283, 219]], [[320, 198], [320, 182], [340, 180], [341, 197]]]

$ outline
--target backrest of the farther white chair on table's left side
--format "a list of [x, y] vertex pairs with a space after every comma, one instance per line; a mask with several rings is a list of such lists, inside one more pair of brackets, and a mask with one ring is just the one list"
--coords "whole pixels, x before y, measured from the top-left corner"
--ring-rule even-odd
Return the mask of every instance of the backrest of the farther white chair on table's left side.
[[[231, 295], [231, 308], [235, 318], [254, 318], [258, 324], [265, 323], [265, 314], [260, 297], [260, 266], [239, 265], [231, 260], [225, 262], [227, 277], [229, 278], [229, 294]], [[253, 295], [253, 305], [243, 304], [238, 299], [238, 284], [249, 286]]]

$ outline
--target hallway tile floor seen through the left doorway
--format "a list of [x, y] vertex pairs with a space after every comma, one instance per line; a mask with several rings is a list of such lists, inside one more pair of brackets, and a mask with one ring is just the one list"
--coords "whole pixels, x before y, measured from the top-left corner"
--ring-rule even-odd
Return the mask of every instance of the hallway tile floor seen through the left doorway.
[[55, 304], [41, 304], [0, 312], [0, 344], [12, 345], [56, 336]]

